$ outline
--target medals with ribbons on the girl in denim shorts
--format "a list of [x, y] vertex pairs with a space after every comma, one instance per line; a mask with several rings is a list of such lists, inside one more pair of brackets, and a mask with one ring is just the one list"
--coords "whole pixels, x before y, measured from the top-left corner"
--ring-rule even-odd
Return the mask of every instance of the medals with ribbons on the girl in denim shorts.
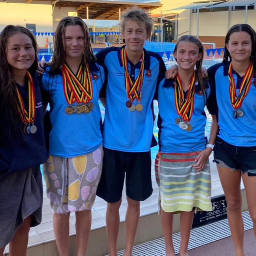
[[232, 73], [232, 62], [229, 65], [229, 68], [228, 68], [229, 95], [230, 95], [230, 101], [233, 107], [233, 118], [243, 117], [245, 114], [241, 109], [241, 105], [250, 90], [251, 81], [253, 79], [253, 73], [254, 73], [253, 63], [250, 63], [243, 77], [243, 80], [238, 92], [238, 96], [237, 96], [235, 79]]

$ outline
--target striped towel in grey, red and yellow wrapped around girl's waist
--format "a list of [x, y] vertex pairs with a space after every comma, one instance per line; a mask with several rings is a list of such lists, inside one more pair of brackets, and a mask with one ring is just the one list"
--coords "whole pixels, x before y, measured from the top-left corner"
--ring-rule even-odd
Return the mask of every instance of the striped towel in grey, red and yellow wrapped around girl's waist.
[[212, 211], [209, 159], [200, 172], [192, 167], [199, 153], [157, 153], [159, 204], [165, 212]]

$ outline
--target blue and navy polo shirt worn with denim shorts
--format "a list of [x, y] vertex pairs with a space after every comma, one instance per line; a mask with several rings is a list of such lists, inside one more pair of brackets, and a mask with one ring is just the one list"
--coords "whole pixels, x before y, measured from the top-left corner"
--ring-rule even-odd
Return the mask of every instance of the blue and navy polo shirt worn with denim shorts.
[[[243, 100], [241, 110], [243, 117], [233, 118], [233, 107], [229, 95], [228, 68], [230, 62], [218, 63], [208, 69], [208, 76], [215, 81], [218, 105], [218, 136], [234, 146], [256, 146], [256, 76], [254, 75], [250, 90]], [[233, 70], [237, 95], [243, 77]]]

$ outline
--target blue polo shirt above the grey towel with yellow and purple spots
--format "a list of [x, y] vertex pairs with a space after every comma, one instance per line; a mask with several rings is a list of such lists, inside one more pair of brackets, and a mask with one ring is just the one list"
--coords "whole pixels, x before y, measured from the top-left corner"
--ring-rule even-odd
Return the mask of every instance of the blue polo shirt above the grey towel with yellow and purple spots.
[[[76, 157], [95, 151], [102, 144], [100, 131], [101, 114], [99, 93], [104, 83], [104, 70], [96, 63], [89, 63], [93, 76], [91, 102], [94, 108], [89, 113], [65, 112], [66, 102], [61, 71], [50, 75], [48, 67], [42, 76], [42, 86], [50, 94], [50, 122], [52, 129], [49, 135], [49, 153], [52, 156]], [[47, 103], [47, 102], [44, 102]], [[77, 105], [75, 102], [74, 105]]]

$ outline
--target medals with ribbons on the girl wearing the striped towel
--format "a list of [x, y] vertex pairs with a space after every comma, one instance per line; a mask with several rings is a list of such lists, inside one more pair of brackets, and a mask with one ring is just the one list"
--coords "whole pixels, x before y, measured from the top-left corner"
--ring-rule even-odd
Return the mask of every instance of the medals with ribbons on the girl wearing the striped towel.
[[190, 85], [188, 86], [188, 92], [186, 98], [184, 96], [184, 91], [181, 84], [180, 76], [177, 75], [175, 79], [174, 86], [174, 97], [175, 97], [175, 107], [178, 116], [175, 119], [175, 123], [185, 131], [191, 131], [192, 126], [190, 125], [190, 120], [194, 109], [194, 93], [195, 93], [195, 73], [191, 77]]

